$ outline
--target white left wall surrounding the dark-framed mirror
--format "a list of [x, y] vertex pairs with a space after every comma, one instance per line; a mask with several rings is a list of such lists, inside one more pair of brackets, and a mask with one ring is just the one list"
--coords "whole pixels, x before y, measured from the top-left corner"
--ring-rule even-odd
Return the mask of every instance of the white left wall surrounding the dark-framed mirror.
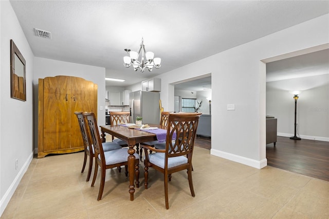
[[[10, 98], [10, 39], [26, 60], [26, 102]], [[0, 1], [0, 204], [1, 214], [33, 157], [34, 56], [8, 1]], [[15, 169], [18, 159], [19, 168]]]

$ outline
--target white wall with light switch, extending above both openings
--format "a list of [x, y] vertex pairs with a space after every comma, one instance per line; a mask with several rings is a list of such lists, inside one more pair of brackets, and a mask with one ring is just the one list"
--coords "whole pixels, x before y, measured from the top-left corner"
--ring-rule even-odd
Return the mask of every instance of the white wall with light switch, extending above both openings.
[[[261, 60], [329, 42], [329, 14], [169, 71], [161, 78], [162, 106], [174, 109], [174, 84], [212, 73], [211, 154], [246, 165], [267, 165], [266, 64]], [[215, 65], [213, 63], [216, 63]], [[227, 111], [234, 103], [235, 111]], [[214, 110], [213, 110], [214, 111]]]

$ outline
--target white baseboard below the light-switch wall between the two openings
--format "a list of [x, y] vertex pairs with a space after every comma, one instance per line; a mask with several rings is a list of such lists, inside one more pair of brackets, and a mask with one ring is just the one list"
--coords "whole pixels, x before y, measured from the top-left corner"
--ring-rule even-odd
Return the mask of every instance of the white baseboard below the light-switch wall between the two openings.
[[253, 160], [247, 157], [242, 157], [239, 155], [235, 155], [235, 154], [230, 154], [227, 152], [223, 152], [223, 151], [218, 151], [215, 149], [211, 149], [210, 150], [210, 154], [211, 155], [215, 155], [217, 157], [222, 157], [228, 160], [232, 160], [234, 162], [238, 162], [238, 163], [242, 163], [244, 165], [253, 167], [253, 168], [257, 168], [257, 169], [262, 169], [264, 167], [267, 166], [267, 159], [263, 159], [263, 160]]

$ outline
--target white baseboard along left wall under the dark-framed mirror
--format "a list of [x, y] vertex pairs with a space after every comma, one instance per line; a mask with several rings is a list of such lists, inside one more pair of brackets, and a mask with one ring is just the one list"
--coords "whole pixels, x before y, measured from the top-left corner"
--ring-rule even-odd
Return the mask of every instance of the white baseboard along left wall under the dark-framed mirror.
[[31, 154], [29, 155], [29, 157], [25, 161], [23, 167], [21, 168], [19, 173], [16, 175], [16, 177], [13, 180], [12, 184], [10, 185], [8, 190], [6, 191], [5, 195], [1, 198], [1, 200], [0, 200], [0, 209], [1, 209], [0, 216], [4, 213], [8, 203], [10, 201], [10, 198], [12, 197], [15, 190], [17, 189], [17, 186], [19, 186], [22, 177], [24, 176], [27, 168], [29, 167], [29, 165], [32, 161], [32, 158], [33, 158], [33, 152], [31, 152]]

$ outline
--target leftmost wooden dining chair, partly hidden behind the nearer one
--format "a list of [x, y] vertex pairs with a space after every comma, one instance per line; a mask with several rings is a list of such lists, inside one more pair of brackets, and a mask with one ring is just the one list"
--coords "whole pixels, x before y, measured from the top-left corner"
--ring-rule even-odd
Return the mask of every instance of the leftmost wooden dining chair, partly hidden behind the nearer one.
[[[89, 157], [89, 166], [88, 166], [88, 174], [87, 174], [87, 179], [86, 181], [89, 181], [90, 179], [90, 174], [92, 173], [92, 168], [93, 168], [93, 160], [95, 157], [95, 150], [94, 150], [94, 145], [90, 143], [90, 136], [89, 133], [86, 130], [86, 125], [85, 121], [82, 115], [82, 112], [75, 112], [74, 114], [77, 115], [79, 126], [80, 126], [80, 131], [81, 131], [81, 136], [83, 140], [83, 146], [84, 146], [84, 160], [83, 160], [83, 166], [81, 173], [84, 172], [84, 169], [86, 167], [87, 163], [87, 158]], [[121, 149], [121, 146], [119, 144], [113, 143], [113, 142], [104, 142], [102, 143], [103, 150], [104, 151], [112, 151], [116, 149]]]

